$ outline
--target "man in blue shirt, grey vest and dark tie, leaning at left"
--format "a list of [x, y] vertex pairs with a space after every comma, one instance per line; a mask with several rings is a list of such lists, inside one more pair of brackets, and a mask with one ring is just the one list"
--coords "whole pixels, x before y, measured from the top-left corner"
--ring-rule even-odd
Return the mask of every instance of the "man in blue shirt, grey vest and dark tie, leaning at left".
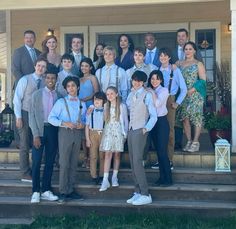
[[20, 170], [21, 181], [32, 182], [29, 165], [29, 148], [31, 143], [31, 130], [29, 128], [29, 111], [32, 94], [44, 87], [44, 73], [47, 69], [47, 60], [39, 58], [35, 64], [35, 71], [25, 75], [19, 80], [13, 99], [16, 127], [20, 136]]

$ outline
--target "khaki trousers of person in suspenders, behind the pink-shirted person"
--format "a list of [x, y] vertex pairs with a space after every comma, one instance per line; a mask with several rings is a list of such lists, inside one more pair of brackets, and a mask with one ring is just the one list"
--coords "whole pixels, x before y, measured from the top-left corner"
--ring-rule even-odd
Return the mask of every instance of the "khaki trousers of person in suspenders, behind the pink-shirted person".
[[175, 113], [176, 109], [172, 108], [171, 104], [175, 102], [175, 96], [170, 95], [167, 100], [167, 120], [170, 126], [169, 142], [168, 142], [168, 157], [169, 160], [173, 160], [174, 150], [175, 150]]

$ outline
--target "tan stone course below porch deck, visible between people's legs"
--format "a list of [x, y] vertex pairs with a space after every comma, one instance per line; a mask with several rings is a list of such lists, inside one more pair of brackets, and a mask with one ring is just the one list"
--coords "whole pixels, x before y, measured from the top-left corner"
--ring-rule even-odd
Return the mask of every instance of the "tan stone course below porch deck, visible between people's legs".
[[[31, 158], [31, 156], [30, 156]], [[79, 156], [79, 164], [82, 163], [84, 158], [83, 152]], [[155, 163], [157, 160], [156, 152], [150, 151], [149, 153], [149, 165]], [[173, 158], [174, 165], [177, 167], [186, 168], [214, 168], [215, 166], [215, 154], [212, 150], [200, 151], [197, 153], [188, 153], [177, 151]], [[0, 164], [19, 163], [19, 150], [13, 148], [0, 149]], [[121, 154], [121, 165], [129, 165], [128, 152]], [[231, 155], [231, 167], [236, 167], [236, 154]]]

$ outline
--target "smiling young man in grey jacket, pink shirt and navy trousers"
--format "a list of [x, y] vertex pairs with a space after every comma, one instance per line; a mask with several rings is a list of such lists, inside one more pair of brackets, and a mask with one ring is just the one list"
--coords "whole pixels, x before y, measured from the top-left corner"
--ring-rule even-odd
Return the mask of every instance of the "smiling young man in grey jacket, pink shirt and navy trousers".
[[[52, 193], [51, 178], [53, 164], [57, 153], [58, 128], [48, 123], [48, 115], [56, 102], [58, 95], [55, 91], [57, 69], [48, 69], [45, 77], [46, 87], [35, 91], [32, 95], [29, 112], [29, 126], [33, 134], [32, 147], [32, 198], [31, 203], [40, 202], [41, 199], [55, 201], [58, 199]], [[45, 166], [40, 188], [40, 167], [45, 153]]]

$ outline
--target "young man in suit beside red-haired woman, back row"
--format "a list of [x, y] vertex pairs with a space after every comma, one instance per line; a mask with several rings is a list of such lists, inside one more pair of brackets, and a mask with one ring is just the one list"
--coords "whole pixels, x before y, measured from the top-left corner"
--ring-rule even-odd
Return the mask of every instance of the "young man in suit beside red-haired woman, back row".
[[84, 39], [80, 35], [74, 35], [71, 39], [71, 55], [74, 57], [75, 61], [73, 63], [71, 73], [73, 75], [80, 75], [80, 62], [86, 56], [83, 55], [82, 49], [84, 47]]

